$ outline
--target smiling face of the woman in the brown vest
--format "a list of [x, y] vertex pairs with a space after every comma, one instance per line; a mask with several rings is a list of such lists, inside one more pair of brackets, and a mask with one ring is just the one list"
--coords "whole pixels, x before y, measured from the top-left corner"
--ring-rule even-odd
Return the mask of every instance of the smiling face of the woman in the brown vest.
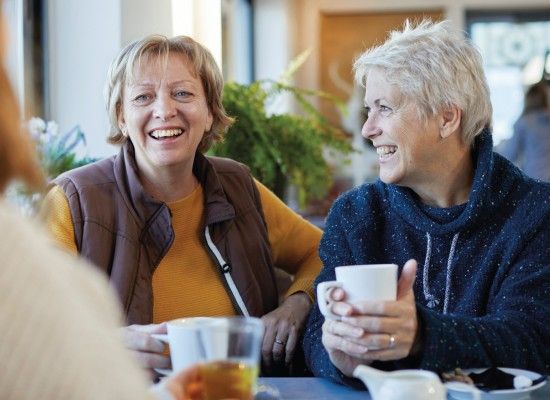
[[190, 172], [204, 132], [212, 127], [202, 82], [184, 55], [137, 64], [126, 83], [119, 126], [135, 148], [140, 172]]

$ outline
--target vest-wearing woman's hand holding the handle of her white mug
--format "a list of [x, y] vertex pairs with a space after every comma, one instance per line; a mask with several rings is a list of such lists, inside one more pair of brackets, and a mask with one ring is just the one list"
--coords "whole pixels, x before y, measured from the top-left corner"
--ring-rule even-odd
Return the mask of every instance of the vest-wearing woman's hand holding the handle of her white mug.
[[126, 347], [134, 350], [145, 368], [170, 368], [170, 359], [163, 355], [164, 343], [153, 333], [166, 333], [166, 324], [130, 325], [124, 329]]

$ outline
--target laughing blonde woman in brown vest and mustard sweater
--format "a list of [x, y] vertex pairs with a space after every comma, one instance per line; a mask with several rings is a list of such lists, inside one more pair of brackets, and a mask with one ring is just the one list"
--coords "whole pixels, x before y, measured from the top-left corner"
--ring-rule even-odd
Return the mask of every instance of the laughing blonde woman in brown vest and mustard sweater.
[[[106, 86], [109, 142], [120, 152], [55, 179], [47, 223], [109, 275], [145, 366], [169, 367], [151, 337], [162, 322], [241, 314], [262, 317], [264, 373], [281, 373], [300, 347], [321, 231], [246, 166], [204, 155], [232, 122], [222, 90], [212, 55], [189, 37], [129, 44]], [[294, 276], [283, 293], [274, 267]]]

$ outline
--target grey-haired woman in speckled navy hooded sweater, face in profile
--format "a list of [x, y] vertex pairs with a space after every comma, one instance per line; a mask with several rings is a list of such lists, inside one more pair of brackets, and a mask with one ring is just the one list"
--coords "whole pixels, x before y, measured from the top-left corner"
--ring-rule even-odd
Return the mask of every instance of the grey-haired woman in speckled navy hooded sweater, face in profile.
[[380, 179], [336, 200], [316, 283], [339, 265], [400, 266], [396, 301], [313, 307], [304, 334], [317, 376], [356, 366], [550, 371], [550, 184], [493, 152], [482, 60], [448, 21], [408, 22], [354, 66], [362, 134]]

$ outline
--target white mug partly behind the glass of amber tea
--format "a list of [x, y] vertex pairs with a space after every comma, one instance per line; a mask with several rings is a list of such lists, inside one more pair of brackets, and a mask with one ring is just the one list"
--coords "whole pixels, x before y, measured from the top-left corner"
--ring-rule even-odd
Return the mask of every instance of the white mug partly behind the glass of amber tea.
[[181, 371], [192, 364], [203, 361], [205, 351], [202, 348], [201, 329], [215, 321], [216, 318], [211, 317], [175, 319], [166, 324], [167, 334], [151, 335], [170, 346], [172, 370], [156, 369], [156, 371], [163, 375], [169, 375], [173, 371]]

